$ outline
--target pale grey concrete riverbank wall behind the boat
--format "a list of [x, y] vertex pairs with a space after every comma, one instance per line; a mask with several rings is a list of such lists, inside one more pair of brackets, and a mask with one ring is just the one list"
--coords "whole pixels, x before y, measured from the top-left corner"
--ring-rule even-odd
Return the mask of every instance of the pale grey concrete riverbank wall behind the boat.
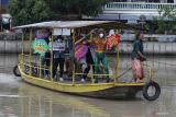
[[[121, 42], [119, 45], [120, 54], [130, 54], [133, 44]], [[21, 35], [14, 33], [0, 33], [0, 52], [21, 52]], [[29, 40], [24, 42], [24, 52], [29, 51]], [[144, 42], [144, 51], [148, 55], [176, 55], [176, 42]], [[113, 54], [113, 52], [111, 52]]]

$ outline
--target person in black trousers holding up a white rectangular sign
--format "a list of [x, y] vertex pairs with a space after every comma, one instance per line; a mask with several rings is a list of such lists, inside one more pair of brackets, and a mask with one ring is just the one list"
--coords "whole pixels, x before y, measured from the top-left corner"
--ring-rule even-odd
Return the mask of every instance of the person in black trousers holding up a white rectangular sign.
[[[57, 81], [56, 72], [59, 63], [59, 81], [64, 81], [64, 62], [65, 62], [65, 40], [62, 35], [58, 35], [57, 38], [53, 42], [53, 79]], [[50, 43], [50, 48], [52, 47]]]

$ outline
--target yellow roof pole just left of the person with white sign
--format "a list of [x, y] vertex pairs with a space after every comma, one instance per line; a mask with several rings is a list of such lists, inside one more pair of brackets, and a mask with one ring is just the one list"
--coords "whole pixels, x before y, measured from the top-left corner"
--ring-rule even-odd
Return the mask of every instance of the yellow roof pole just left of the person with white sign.
[[53, 30], [51, 36], [51, 80], [53, 81]]

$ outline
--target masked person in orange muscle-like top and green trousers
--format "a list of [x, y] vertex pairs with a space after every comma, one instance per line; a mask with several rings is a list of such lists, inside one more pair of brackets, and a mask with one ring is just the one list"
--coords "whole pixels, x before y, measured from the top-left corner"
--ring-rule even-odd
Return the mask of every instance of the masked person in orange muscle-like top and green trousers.
[[99, 28], [97, 33], [97, 37], [91, 38], [87, 40], [86, 43], [92, 44], [95, 46], [95, 83], [98, 83], [98, 73], [99, 73], [99, 65], [100, 62], [103, 66], [107, 82], [110, 81], [109, 79], [109, 69], [108, 69], [108, 62], [106, 57], [106, 50], [107, 50], [107, 38], [106, 38], [106, 31], [103, 28]]

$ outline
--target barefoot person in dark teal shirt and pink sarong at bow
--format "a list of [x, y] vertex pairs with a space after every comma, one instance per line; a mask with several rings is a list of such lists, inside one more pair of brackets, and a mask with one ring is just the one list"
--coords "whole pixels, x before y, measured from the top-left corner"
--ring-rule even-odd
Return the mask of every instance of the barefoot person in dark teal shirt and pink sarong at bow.
[[144, 78], [143, 61], [146, 60], [143, 52], [143, 34], [138, 33], [136, 39], [133, 43], [132, 58], [132, 72], [133, 81], [141, 82]]

